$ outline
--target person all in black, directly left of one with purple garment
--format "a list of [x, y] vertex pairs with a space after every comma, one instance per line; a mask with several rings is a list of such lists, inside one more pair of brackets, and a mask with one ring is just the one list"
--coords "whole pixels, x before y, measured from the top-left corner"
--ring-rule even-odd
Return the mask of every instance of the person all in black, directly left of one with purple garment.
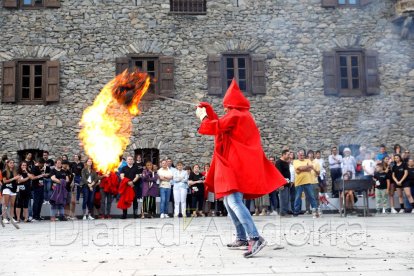
[[[40, 213], [42, 211], [42, 205], [44, 200], [44, 177], [47, 174], [44, 171], [45, 160], [40, 158], [35, 166], [32, 168], [33, 179], [32, 179], [32, 189], [33, 189], [33, 221], [40, 221]], [[50, 172], [48, 172], [50, 173]]]

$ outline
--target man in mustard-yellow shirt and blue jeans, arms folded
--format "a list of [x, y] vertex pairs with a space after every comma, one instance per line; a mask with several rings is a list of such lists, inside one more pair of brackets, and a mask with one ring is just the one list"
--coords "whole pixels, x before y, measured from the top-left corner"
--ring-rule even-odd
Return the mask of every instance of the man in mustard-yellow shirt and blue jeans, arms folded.
[[295, 208], [293, 211], [294, 216], [298, 216], [300, 213], [300, 206], [302, 202], [302, 192], [305, 192], [305, 196], [310, 201], [312, 207], [313, 217], [319, 217], [317, 212], [317, 204], [315, 197], [313, 196], [313, 187], [312, 182], [314, 182], [314, 176], [312, 171], [315, 170], [312, 162], [308, 159], [305, 159], [305, 151], [298, 151], [298, 159], [293, 161], [293, 166], [295, 168], [295, 186], [296, 186], [296, 195], [295, 195]]

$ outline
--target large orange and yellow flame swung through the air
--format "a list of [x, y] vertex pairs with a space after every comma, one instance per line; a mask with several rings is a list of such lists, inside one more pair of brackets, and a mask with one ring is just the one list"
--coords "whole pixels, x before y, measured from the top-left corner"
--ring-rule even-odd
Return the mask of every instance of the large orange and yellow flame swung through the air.
[[140, 113], [138, 104], [149, 85], [148, 74], [125, 70], [83, 112], [79, 138], [96, 170], [109, 173], [118, 168], [119, 156], [129, 144], [132, 119]]

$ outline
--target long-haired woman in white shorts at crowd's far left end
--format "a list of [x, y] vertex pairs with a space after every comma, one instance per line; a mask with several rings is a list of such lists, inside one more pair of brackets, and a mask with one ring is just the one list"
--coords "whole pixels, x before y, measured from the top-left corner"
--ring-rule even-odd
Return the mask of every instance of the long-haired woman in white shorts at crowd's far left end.
[[10, 218], [16, 222], [14, 219], [14, 203], [16, 202], [16, 192], [17, 192], [17, 180], [20, 178], [20, 175], [17, 173], [14, 161], [9, 159], [6, 161], [6, 169], [2, 172], [3, 175], [3, 185], [2, 194], [3, 194], [3, 222], [9, 223], [6, 216], [7, 208], [10, 207]]

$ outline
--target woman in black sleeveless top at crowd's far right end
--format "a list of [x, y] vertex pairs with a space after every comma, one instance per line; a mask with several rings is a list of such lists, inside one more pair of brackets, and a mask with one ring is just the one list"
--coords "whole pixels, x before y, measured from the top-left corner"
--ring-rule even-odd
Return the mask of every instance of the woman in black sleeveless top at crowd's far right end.
[[[394, 155], [395, 165], [392, 168], [392, 178], [396, 184], [397, 189], [403, 189], [404, 193], [410, 203], [411, 209], [414, 208], [414, 200], [411, 195], [410, 183], [406, 181], [408, 176], [407, 164], [403, 163], [402, 158], [399, 154]], [[400, 213], [404, 213], [404, 203], [400, 201]]]

